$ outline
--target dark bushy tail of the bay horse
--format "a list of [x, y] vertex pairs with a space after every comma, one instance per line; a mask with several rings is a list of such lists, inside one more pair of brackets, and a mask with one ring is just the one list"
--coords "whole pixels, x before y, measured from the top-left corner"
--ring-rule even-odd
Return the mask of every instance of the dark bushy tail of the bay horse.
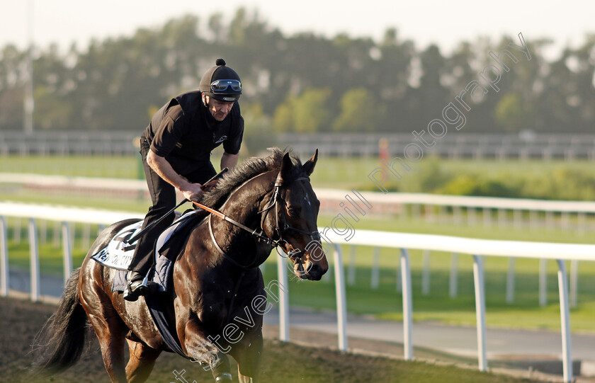
[[80, 271], [77, 268], [70, 275], [60, 307], [35, 338], [38, 358], [33, 362], [34, 367], [54, 372], [66, 370], [84, 351], [88, 318], [79, 301]]

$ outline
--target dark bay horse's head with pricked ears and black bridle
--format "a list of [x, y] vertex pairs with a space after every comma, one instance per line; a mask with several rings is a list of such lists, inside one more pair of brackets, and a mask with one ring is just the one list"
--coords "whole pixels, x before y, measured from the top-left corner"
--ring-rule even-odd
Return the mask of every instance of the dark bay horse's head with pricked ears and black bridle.
[[294, 163], [285, 153], [268, 202], [271, 214], [263, 216], [263, 229], [293, 262], [293, 273], [308, 280], [320, 280], [329, 270], [317, 229], [320, 201], [310, 184], [318, 149], [305, 164]]

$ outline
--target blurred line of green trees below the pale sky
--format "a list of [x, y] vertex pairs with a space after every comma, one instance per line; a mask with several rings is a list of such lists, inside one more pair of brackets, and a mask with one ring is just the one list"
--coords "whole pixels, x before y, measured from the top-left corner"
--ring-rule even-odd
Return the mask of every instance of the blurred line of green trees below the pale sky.
[[[511, 65], [498, 92], [474, 98], [465, 132], [592, 132], [595, 35], [555, 59], [551, 40], [525, 36], [531, 60]], [[380, 41], [285, 35], [257, 11], [184, 16], [134, 35], [34, 47], [35, 129], [137, 130], [169, 98], [198, 88], [224, 57], [244, 86], [247, 132], [412, 132], [423, 129], [516, 36], [462, 41], [446, 55], [385, 31]], [[0, 130], [23, 129], [26, 54], [0, 52]]]

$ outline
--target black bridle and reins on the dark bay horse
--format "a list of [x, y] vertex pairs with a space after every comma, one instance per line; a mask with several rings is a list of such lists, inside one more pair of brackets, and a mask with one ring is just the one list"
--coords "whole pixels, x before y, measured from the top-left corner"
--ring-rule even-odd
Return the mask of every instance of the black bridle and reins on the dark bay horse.
[[[296, 178], [293, 181], [310, 181], [310, 178], [308, 178], [308, 177]], [[305, 231], [302, 229], [297, 229], [296, 227], [293, 227], [290, 224], [288, 224], [287, 219], [285, 218], [285, 215], [283, 215], [283, 221], [284, 221], [283, 226], [281, 226], [279, 224], [279, 205], [280, 205], [280, 203], [283, 203], [285, 205], [285, 200], [283, 200], [283, 198], [280, 197], [280, 193], [279, 193], [279, 188], [281, 185], [282, 185], [282, 182], [279, 179], [277, 179], [277, 181], [275, 183], [275, 188], [273, 189], [273, 193], [271, 194], [271, 200], [269, 200], [267, 202], [266, 207], [263, 210], [258, 212], [258, 214], [262, 214], [261, 224], [259, 227], [260, 230], [259, 229], [250, 229], [249, 227], [246, 227], [246, 225], [237, 222], [235, 219], [227, 217], [227, 215], [224, 215], [222, 212], [218, 212], [217, 210], [211, 209], [210, 207], [206, 207], [205, 205], [201, 205], [197, 202], [193, 202], [198, 207], [202, 207], [203, 209], [205, 209], [207, 212], [210, 213], [210, 215], [208, 217], [208, 227], [209, 227], [209, 234], [210, 234], [212, 243], [215, 244], [215, 248], [217, 248], [217, 251], [219, 251], [222, 254], [222, 256], [224, 256], [228, 261], [230, 261], [237, 267], [242, 268], [244, 270], [248, 270], [250, 268], [256, 267], [257, 255], [254, 256], [254, 261], [252, 261], [249, 265], [240, 265], [239, 263], [237, 263], [237, 261], [235, 261], [227, 253], [225, 253], [225, 251], [223, 251], [223, 249], [219, 246], [219, 244], [217, 244], [217, 240], [215, 239], [215, 234], [213, 234], [213, 232], [212, 232], [212, 224], [211, 224], [212, 215], [217, 215], [217, 217], [224, 219], [225, 221], [229, 222], [230, 224], [232, 224], [236, 227], [239, 227], [240, 229], [243, 229], [244, 231], [249, 232], [252, 236], [256, 237], [257, 241], [264, 242], [265, 244], [268, 244], [268, 246], [271, 246], [271, 249], [281, 246], [283, 248], [283, 250], [287, 252], [288, 256], [290, 257], [290, 259], [292, 259], [292, 261], [295, 258], [300, 258], [300, 256], [298, 254], [301, 253], [302, 251], [299, 248], [297, 248], [297, 249], [293, 248], [293, 246], [288, 241], [283, 239], [283, 233], [285, 233], [285, 231], [288, 231], [288, 230], [297, 231], [298, 233], [306, 234], [307, 236], [310, 236], [313, 240], [319, 241], [320, 234], [318, 231]], [[278, 237], [277, 239], [269, 238], [265, 234], [264, 228], [263, 228], [266, 215], [268, 214], [269, 211], [271, 211], [273, 209], [273, 207], [275, 207], [274, 234], [276, 234], [276, 236]]]

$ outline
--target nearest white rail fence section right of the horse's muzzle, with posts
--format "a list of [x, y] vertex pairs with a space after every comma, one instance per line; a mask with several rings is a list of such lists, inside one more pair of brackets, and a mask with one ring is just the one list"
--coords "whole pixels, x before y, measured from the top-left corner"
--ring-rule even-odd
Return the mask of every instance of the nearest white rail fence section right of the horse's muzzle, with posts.
[[[329, 233], [331, 234], [331, 233]], [[343, 262], [341, 247], [342, 237], [329, 235], [330, 241], [336, 241], [334, 246], [336, 291], [344, 295]], [[555, 260], [558, 266], [558, 291], [560, 295], [560, 319], [562, 332], [562, 362], [564, 365], [564, 381], [572, 382], [572, 364], [570, 345], [570, 299], [565, 261], [595, 261], [595, 245], [587, 244], [557, 244], [529, 241], [497, 241], [487, 239], [470, 239], [455, 236], [439, 236], [430, 234], [402, 234], [385, 231], [358, 230], [356, 236], [349, 241], [351, 245], [378, 246], [398, 248], [400, 250], [400, 269], [402, 278], [402, 302], [404, 318], [404, 358], [412, 358], [412, 290], [411, 270], [409, 269], [410, 249], [424, 251], [447, 251], [451, 253], [465, 253], [473, 257], [473, 275], [475, 285], [475, 306], [477, 313], [477, 349], [480, 370], [487, 370], [487, 350], [485, 346], [485, 280], [483, 271], [483, 257], [497, 256], [515, 258], [535, 258], [540, 260]], [[509, 273], [510, 275], [510, 273]], [[541, 279], [541, 278], [540, 278]], [[422, 282], [422, 286], [424, 282]], [[507, 287], [509, 290], [509, 287]], [[339, 299], [339, 298], [337, 298]], [[339, 307], [339, 305], [338, 305]], [[339, 328], [345, 328], [345, 312], [338, 310], [337, 321]], [[339, 345], [345, 345], [346, 333], [339, 332]], [[342, 339], [341, 339], [342, 338]]]

